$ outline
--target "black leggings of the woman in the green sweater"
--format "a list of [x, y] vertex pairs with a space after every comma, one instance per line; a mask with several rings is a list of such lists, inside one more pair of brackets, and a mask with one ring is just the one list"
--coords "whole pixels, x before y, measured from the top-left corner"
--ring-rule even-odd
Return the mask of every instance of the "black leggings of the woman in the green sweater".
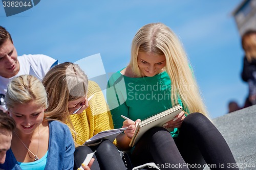
[[174, 140], [162, 127], [148, 130], [132, 152], [134, 166], [155, 162], [165, 169], [233, 168], [236, 161], [221, 133], [201, 113], [193, 113], [183, 120]]

